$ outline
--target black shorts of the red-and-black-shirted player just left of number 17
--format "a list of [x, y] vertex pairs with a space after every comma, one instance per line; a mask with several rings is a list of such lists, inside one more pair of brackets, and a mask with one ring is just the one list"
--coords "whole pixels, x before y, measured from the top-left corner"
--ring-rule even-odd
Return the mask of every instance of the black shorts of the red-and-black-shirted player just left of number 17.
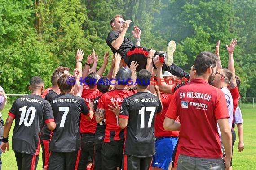
[[102, 144], [102, 170], [121, 169], [123, 159], [124, 140], [117, 140]]

